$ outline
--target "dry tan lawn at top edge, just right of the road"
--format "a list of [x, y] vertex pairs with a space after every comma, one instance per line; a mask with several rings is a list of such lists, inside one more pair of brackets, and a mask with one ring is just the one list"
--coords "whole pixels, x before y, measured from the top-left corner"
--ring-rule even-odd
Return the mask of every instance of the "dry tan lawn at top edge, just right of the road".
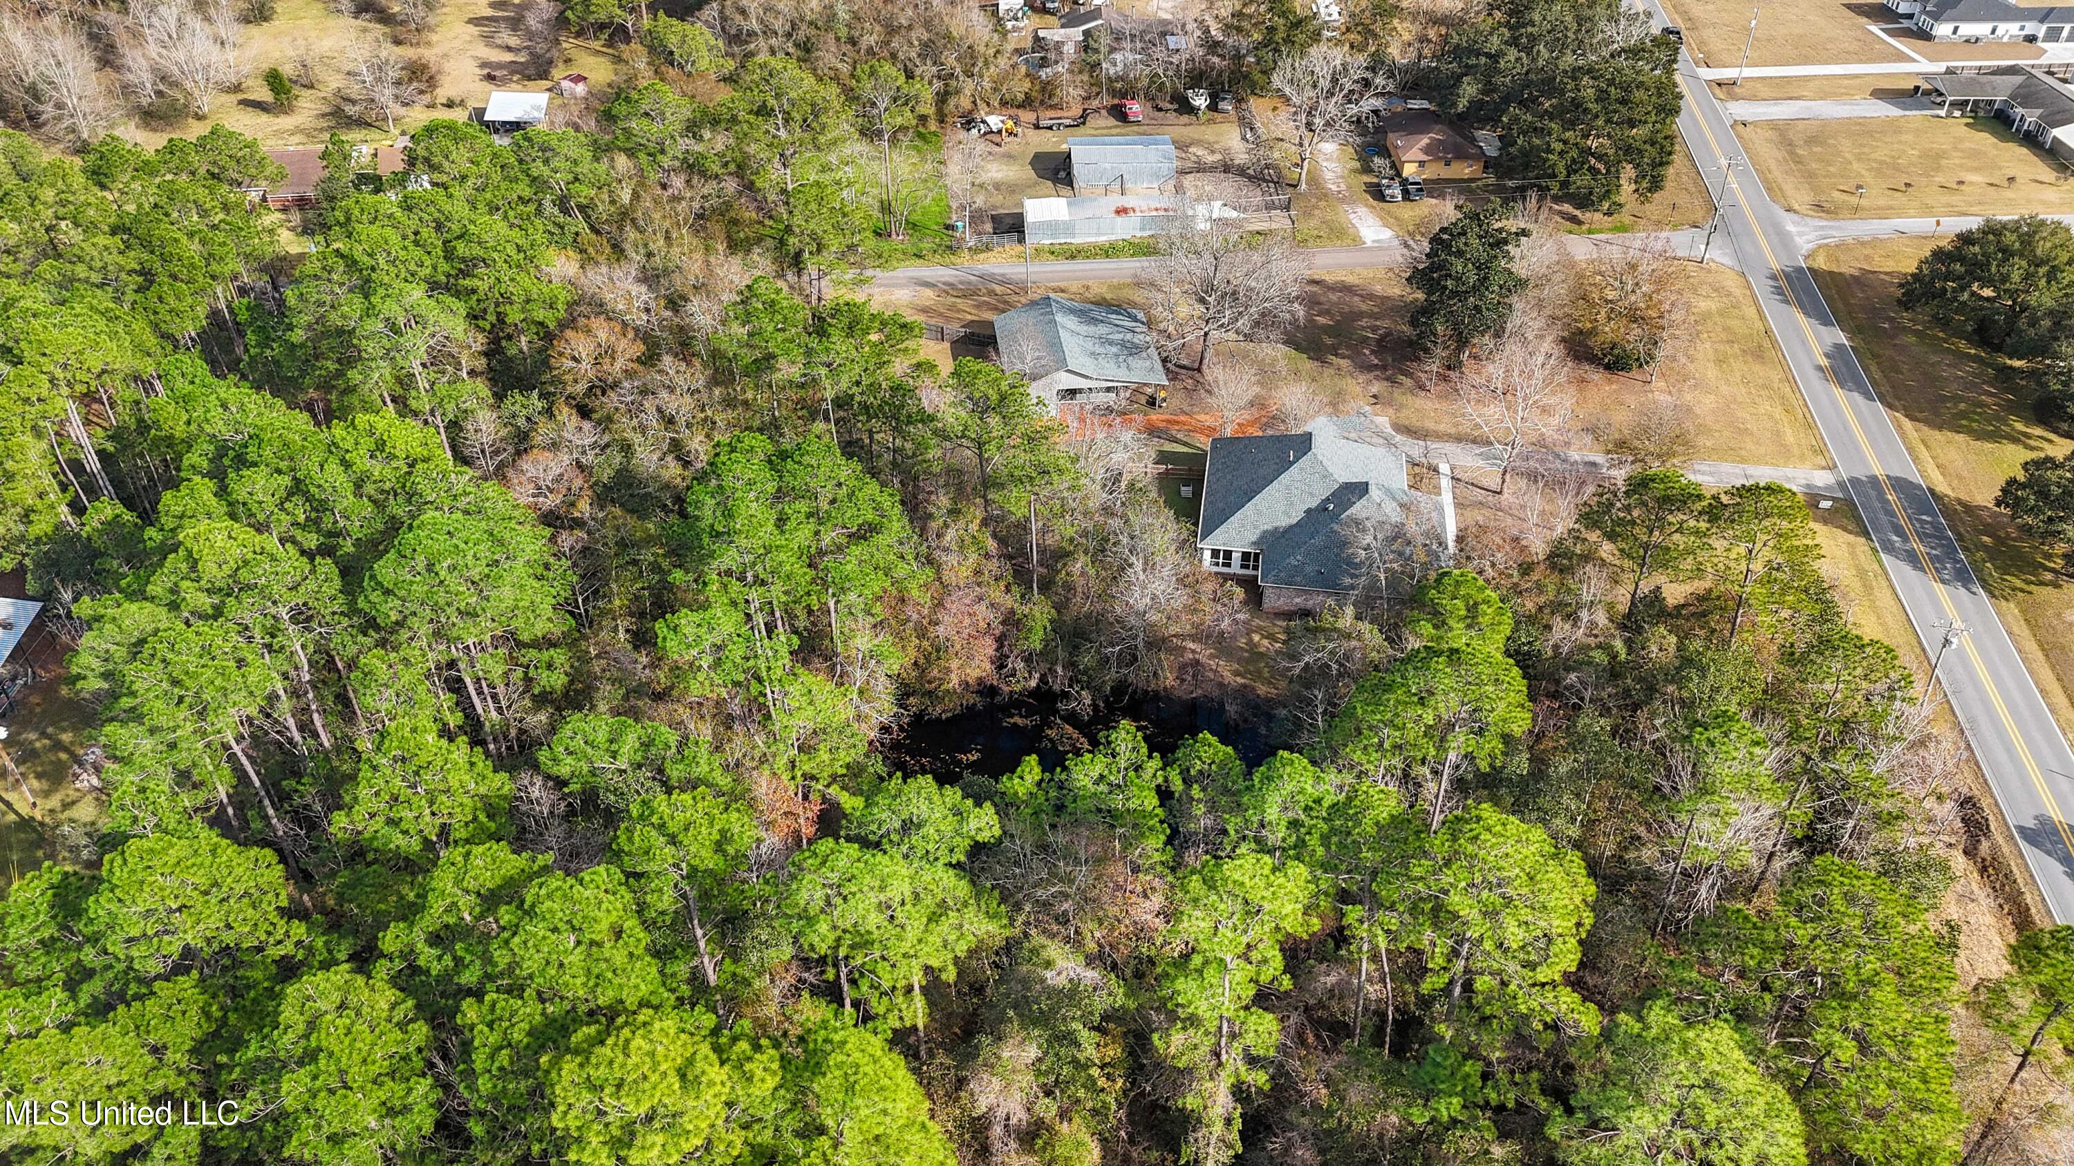
[[[1742, 60], [1742, 44], [1750, 39], [1750, 10], [1755, 6], [1753, 0], [1665, 0], [1663, 10], [1670, 12], [1674, 25], [1684, 29], [1692, 60], [1703, 68], [1734, 68]], [[1852, 4], [1806, 0], [1792, 6], [1767, 6], [1757, 17], [1750, 64], [1877, 64], [1891, 60], [1906, 66], [1906, 54], [1867, 29], [1867, 25], [1883, 25], [1891, 19], [1894, 12], [1877, 0]]]

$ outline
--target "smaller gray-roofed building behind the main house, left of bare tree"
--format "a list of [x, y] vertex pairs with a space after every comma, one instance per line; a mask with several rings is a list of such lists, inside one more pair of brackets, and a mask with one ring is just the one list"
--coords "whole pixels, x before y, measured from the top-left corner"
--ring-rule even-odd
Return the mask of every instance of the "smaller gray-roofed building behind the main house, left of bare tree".
[[1168, 382], [1145, 313], [1128, 307], [1047, 295], [996, 315], [993, 346], [1002, 367], [1029, 378], [1054, 413]]

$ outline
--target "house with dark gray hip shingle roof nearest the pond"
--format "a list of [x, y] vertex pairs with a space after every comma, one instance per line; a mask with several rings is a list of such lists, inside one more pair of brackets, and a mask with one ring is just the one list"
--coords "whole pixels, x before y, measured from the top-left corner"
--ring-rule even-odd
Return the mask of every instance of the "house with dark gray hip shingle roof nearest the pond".
[[1319, 417], [1302, 434], [1215, 438], [1197, 525], [1203, 566], [1261, 585], [1269, 612], [1402, 595], [1454, 552], [1454, 488], [1408, 485], [1385, 423]]

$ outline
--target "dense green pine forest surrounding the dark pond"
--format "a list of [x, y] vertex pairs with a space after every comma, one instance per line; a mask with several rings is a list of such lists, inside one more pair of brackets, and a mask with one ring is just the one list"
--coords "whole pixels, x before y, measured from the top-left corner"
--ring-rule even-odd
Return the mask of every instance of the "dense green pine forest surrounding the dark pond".
[[[307, 239], [228, 131], [0, 133], [0, 568], [104, 755], [0, 1098], [239, 1116], [0, 1160], [2030, 1154], [2074, 936], [1960, 990], [1954, 751], [1800, 498], [1636, 471], [1298, 620], [1242, 741], [1132, 724], [1265, 616], [1141, 444], [844, 282], [852, 95], [336, 143]], [[1022, 695], [1099, 728], [886, 759]]]

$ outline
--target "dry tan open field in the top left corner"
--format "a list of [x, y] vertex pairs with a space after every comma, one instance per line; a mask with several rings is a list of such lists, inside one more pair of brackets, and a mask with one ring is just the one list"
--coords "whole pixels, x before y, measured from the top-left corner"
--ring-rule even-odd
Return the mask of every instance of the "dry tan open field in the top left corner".
[[[398, 46], [404, 56], [438, 62], [442, 75], [438, 91], [425, 106], [398, 114], [396, 131], [409, 133], [431, 118], [467, 118], [471, 108], [483, 104], [489, 89], [543, 89], [543, 79], [518, 77], [518, 52], [512, 48], [516, 25], [516, 0], [446, 4], [421, 44]], [[344, 50], [359, 37], [386, 39], [388, 33], [390, 29], [380, 23], [340, 17], [324, 0], [278, 0], [278, 15], [272, 21], [245, 27], [243, 52], [251, 75], [243, 91], [218, 93], [207, 118], [178, 127], [131, 122], [120, 133], [151, 147], [168, 137], [195, 137], [212, 122], [251, 135], [270, 149], [324, 145], [334, 131], [351, 141], [390, 141], [394, 135], [386, 127], [340, 118], [330, 100], [330, 87], [340, 81]], [[317, 60], [317, 87], [299, 89], [295, 110], [276, 114], [259, 77], [274, 66], [292, 77], [295, 62], [305, 54]], [[618, 60], [610, 52], [564, 35], [562, 64], [556, 68], [556, 77], [585, 73], [591, 79], [591, 89], [601, 91], [616, 64]], [[492, 73], [500, 79], [489, 81]]]

